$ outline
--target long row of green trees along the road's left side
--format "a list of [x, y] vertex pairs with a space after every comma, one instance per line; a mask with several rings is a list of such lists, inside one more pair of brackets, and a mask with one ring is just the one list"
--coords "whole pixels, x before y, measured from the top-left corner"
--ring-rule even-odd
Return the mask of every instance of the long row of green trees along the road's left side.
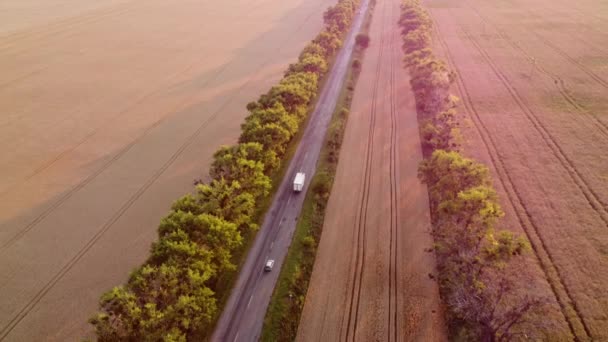
[[[272, 187], [289, 142], [318, 92], [319, 79], [354, 17], [358, 0], [340, 0], [324, 29], [289, 66], [283, 79], [247, 105], [238, 144], [221, 147], [209, 174], [161, 220], [148, 260], [125, 285], [102, 295], [90, 322], [100, 341], [187, 341], [209, 333], [219, 280], [235, 272], [234, 255], [258, 228], [254, 214]], [[239, 253], [240, 254], [240, 253]]]

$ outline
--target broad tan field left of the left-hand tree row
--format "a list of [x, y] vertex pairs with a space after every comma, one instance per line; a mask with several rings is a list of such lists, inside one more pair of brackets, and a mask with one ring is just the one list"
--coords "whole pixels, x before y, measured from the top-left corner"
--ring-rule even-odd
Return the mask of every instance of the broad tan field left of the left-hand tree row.
[[0, 340], [79, 340], [333, 0], [0, 4]]

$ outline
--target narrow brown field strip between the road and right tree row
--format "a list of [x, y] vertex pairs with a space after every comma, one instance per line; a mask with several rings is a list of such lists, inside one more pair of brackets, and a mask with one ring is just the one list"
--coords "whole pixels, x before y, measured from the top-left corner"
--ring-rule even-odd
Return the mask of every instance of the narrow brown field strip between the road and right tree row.
[[445, 340], [399, 3], [378, 0], [374, 10], [300, 341]]

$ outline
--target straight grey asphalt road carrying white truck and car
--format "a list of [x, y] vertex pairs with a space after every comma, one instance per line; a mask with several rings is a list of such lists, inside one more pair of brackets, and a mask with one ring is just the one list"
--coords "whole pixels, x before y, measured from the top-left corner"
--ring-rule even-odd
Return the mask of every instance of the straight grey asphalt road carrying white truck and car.
[[[260, 337], [266, 308], [291, 244], [308, 185], [316, 171], [325, 132], [336, 107], [355, 46], [355, 36], [363, 23], [368, 3], [368, 0], [361, 2], [351, 32], [328, 75], [304, 136], [222, 312], [212, 341], [257, 341]], [[306, 174], [301, 193], [293, 191], [293, 179], [297, 172]], [[263, 268], [268, 259], [275, 260], [274, 269], [265, 273]]]

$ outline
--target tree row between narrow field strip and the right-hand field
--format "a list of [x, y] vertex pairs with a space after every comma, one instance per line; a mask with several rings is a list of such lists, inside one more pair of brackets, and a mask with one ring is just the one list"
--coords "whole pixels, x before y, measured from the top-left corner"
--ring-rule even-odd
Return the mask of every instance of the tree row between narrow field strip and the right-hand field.
[[432, 21], [419, 0], [404, 0], [405, 66], [411, 75], [425, 160], [419, 177], [428, 185], [438, 281], [456, 340], [510, 340], [540, 300], [514, 295], [505, 270], [529, 249], [528, 241], [496, 228], [504, 215], [486, 166], [465, 158], [450, 94], [455, 74], [431, 49]]

